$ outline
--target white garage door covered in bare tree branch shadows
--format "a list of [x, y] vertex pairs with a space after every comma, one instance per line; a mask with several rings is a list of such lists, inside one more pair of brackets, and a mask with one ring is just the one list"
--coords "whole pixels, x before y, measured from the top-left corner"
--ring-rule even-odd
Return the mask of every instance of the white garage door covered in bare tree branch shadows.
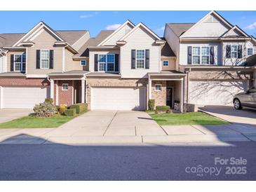
[[234, 95], [246, 90], [248, 90], [248, 81], [190, 81], [189, 103], [232, 104]]

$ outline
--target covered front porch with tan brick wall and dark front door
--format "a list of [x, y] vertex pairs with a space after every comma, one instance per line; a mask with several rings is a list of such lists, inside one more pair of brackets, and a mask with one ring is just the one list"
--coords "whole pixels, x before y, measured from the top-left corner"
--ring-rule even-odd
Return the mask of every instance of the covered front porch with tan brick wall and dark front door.
[[149, 74], [148, 99], [155, 100], [155, 106], [170, 106], [183, 112], [184, 76], [178, 71], [161, 71]]

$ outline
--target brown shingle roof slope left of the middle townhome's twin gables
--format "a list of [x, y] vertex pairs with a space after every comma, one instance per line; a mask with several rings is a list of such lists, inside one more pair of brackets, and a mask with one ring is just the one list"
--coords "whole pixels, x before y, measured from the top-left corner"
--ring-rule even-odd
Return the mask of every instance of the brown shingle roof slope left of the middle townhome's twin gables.
[[95, 38], [90, 38], [83, 46], [79, 49], [79, 53], [74, 55], [74, 57], [88, 57], [89, 50], [88, 47], [90, 46], [97, 46], [98, 43], [106, 39], [107, 36], [111, 35], [114, 30], [102, 30]]

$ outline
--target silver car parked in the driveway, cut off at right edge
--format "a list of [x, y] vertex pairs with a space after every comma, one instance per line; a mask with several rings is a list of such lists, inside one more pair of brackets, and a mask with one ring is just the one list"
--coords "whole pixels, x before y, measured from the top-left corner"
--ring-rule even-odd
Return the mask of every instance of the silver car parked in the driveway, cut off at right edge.
[[247, 92], [236, 94], [233, 103], [235, 109], [242, 109], [243, 107], [256, 109], [256, 86], [252, 87]]

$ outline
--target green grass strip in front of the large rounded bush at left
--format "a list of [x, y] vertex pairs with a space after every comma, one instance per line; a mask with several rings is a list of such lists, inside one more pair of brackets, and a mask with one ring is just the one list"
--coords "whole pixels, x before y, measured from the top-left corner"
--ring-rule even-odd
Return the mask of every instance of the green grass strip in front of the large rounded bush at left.
[[39, 118], [25, 116], [17, 118], [13, 121], [1, 123], [0, 128], [57, 128], [58, 126], [67, 123], [75, 116], [54, 115], [49, 118]]

